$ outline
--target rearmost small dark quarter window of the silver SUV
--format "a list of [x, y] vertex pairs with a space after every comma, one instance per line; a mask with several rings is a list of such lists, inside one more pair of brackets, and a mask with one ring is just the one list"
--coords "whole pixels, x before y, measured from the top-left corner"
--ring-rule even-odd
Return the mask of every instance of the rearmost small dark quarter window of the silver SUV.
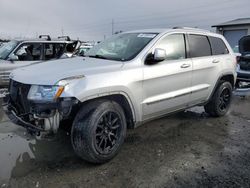
[[217, 37], [209, 37], [213, 55], [228, 54], [229, 51], [223, 40]]

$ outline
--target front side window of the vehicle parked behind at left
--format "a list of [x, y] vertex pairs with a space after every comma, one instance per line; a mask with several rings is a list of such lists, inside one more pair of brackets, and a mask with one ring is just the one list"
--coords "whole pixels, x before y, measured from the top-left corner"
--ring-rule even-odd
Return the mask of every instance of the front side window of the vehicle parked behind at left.
[[14, 54], [19, 61], [37, 61], [41, 60], [41, 49], [40, 43], [26, 43], [21, 45]]

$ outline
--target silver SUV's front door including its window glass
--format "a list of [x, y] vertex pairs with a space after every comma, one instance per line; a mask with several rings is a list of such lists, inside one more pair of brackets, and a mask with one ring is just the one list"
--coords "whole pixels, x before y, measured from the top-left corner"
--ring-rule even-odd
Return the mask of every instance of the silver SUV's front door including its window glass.
[[184, 108], [190, 97], [192, 61], [187, 59], [184, 34], [167, 35], [154, 49], [164, 49], [166, 60], [144, 65], [143, 120]]

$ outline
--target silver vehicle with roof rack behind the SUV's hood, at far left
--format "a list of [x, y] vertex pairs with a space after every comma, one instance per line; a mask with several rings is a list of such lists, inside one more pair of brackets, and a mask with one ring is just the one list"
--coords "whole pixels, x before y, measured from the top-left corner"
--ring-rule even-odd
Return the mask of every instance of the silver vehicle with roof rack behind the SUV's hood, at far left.
[[13, 69], [58, 59], [65, 53], [67, 45], [72, 43], [74, 41], [69, 37], [52, 40], [48, 35], [41, 35], [39, 39], [12, 40], [3, 44], [0, 48], [0, 87], [8, 85], [9, 74]]

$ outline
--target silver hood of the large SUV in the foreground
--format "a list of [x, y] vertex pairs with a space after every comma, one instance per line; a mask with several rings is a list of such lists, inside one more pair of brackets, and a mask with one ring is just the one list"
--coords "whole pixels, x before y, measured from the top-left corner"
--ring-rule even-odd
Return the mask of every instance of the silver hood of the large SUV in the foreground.
[[14, 70], [10, 78], [24, 84], [54, 85], [59, 80], [72, 76], [112, 72], [123, 63], [88, 57], [73, 57], [41, 62]]

